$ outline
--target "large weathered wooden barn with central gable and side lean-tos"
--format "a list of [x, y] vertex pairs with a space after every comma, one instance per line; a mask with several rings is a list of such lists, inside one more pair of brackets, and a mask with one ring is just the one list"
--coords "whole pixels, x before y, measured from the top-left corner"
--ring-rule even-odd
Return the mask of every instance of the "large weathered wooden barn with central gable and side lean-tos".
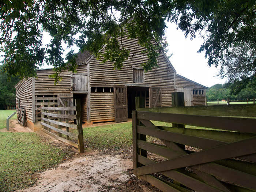
[[205, 105], [207, 87], [178, 75], [163, 52], [159, 67], [145, 73], [140, 64], [148, 58], [138, 41], [120, 38], [120, 44], [130, 51], [122, 70], [85, 51], [78, 53], [78, 73], [63, 71], [59, 84], [49, 78], [52, 69], [38, 70], [37, 78], [16, 84], [16, 106], [26, 108], [27, 126], [33, 131], [41, 127], [40, 106], [63, 105], [64, 101], [73, 105], [75, 98], [82, 101], [82, 121], [87, 123], [127, 121], [136, 108], [135, 97], [140, 97], [140, 107], [164, 107], [172, 106], [172, 92], [184, 92], [185, 106]]

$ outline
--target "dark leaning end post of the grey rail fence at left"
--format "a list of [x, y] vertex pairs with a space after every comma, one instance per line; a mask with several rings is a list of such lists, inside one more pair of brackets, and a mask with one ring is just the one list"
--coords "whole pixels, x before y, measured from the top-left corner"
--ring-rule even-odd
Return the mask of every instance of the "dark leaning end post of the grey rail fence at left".
[[84, 153], [81, 99], [75, 99], [79, 152]]

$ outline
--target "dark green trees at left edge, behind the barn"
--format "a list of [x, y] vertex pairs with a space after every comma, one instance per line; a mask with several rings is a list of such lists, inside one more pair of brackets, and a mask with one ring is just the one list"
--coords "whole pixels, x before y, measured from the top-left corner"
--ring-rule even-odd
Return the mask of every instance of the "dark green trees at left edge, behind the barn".
[[[0, 71], [3, 65], [0, 65]], [[15, 106], [15, 84], [19, 82], [18, 77], [11, 77], [10, 81], [7, 75], [0, 73], [0, 109], [5, 109], [5, 106]]]

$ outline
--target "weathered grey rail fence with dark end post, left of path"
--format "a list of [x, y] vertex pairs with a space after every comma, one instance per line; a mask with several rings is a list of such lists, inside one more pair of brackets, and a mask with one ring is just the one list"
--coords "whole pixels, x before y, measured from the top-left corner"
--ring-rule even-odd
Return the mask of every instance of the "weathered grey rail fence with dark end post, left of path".
[[[62, 142], [79, 148], [80, 153], [84, 153], [81, 101], [75, 99], [75, 106], [69, 107], [67, 103], [65, 101], [65, 107], [41, 106], [41, 130]], [[78, 133], [70, 132], [69, 129], [77, 129]], [[77, 139], [78, 143], [71, 138]]]

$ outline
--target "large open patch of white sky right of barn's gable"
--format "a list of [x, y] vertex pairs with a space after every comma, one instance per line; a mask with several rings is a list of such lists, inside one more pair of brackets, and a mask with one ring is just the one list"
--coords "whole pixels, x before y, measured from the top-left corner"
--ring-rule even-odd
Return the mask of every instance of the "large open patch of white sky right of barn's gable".
[[218, 69], [215, 66], [208, 66], [204, 53], [197, 53], [200, 45], [203, 44], [202, 38], [196, 37], [192, 41], [190, 37], [185, 39], [184, 33], [176, 29], [175, 23], [167, 23], [167, 26], [166, 37], [169, 44], [169, 55], [173, 53], [170, 61], [177, 74], [207, 87], [225, 83], [225, 79], [215, 76], [218, 74]]

